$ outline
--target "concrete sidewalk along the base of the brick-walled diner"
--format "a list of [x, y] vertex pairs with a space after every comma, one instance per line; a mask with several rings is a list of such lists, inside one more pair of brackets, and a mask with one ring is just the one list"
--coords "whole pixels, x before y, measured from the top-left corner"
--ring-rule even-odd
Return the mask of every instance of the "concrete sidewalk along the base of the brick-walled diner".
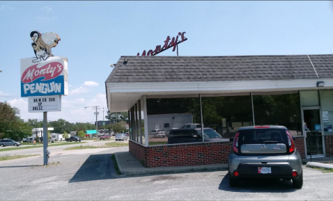
[[[116, 152], [116, 161], [122, 175], [146, 175], [154, 173], [191, 172], [200, 170], [228, 170], [227, 163], [219, 163], [201, 166], [173, 166], [145, 168], [130, 152]], [[302, 159], [303, 165], [307, 167], [333, 169], [333, 157]]]

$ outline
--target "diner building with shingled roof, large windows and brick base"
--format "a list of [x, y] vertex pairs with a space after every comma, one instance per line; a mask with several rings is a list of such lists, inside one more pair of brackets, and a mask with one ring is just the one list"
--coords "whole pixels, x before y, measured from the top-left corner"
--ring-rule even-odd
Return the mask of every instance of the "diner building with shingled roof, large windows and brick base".
[[[105, 87], [109, 111], [128, 111], [130, 152], [146, 167], [226, 163], [228, 139], [256, 124], [286, 126], [303, 158], [333, 154], [332, 54], [121, 56]], [[226, 140], [148, 138], [148, 115], [170, 116], [155, 121], [166, 130], [180, 113]]]

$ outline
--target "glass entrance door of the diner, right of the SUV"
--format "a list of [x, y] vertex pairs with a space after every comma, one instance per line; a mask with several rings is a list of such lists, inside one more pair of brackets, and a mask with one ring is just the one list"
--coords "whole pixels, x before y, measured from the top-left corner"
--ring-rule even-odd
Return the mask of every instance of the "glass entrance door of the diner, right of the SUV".
[[303, 109], [304, 136], [307, 142], [307, 158], [323, 157], [323, 135], [319, 108]]

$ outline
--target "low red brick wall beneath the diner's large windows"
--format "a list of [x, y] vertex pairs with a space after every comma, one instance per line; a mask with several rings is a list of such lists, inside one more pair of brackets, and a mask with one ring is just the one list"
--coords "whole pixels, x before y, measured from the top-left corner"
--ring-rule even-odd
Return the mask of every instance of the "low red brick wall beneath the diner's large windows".
[[[228, 163], [228, 156], [232, 145], [229, 141], [150, 147], [145, 147], [132, 140], [129, 143], [130, 153], [143, 163], [146, 168]], [[298, 152], [300, 152], [302, 159], [304, 159], [303, 136], [295, 136], [295, 146]]]

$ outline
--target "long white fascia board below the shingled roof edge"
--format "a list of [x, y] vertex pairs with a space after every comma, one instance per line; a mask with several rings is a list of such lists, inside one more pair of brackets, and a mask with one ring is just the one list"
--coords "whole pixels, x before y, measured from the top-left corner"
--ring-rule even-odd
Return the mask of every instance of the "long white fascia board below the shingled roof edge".
[[323, 88], [333, 88], [333, 79], [292, 79], [255, 81], [186, 81], [186, 82], [146, 82], [146, 83], [107, 83], [110, 93], [151, 93], [151, 92], [199, 92], [210, 91], [274, 91], [321, 89], [317, 81], [324, 81]]

